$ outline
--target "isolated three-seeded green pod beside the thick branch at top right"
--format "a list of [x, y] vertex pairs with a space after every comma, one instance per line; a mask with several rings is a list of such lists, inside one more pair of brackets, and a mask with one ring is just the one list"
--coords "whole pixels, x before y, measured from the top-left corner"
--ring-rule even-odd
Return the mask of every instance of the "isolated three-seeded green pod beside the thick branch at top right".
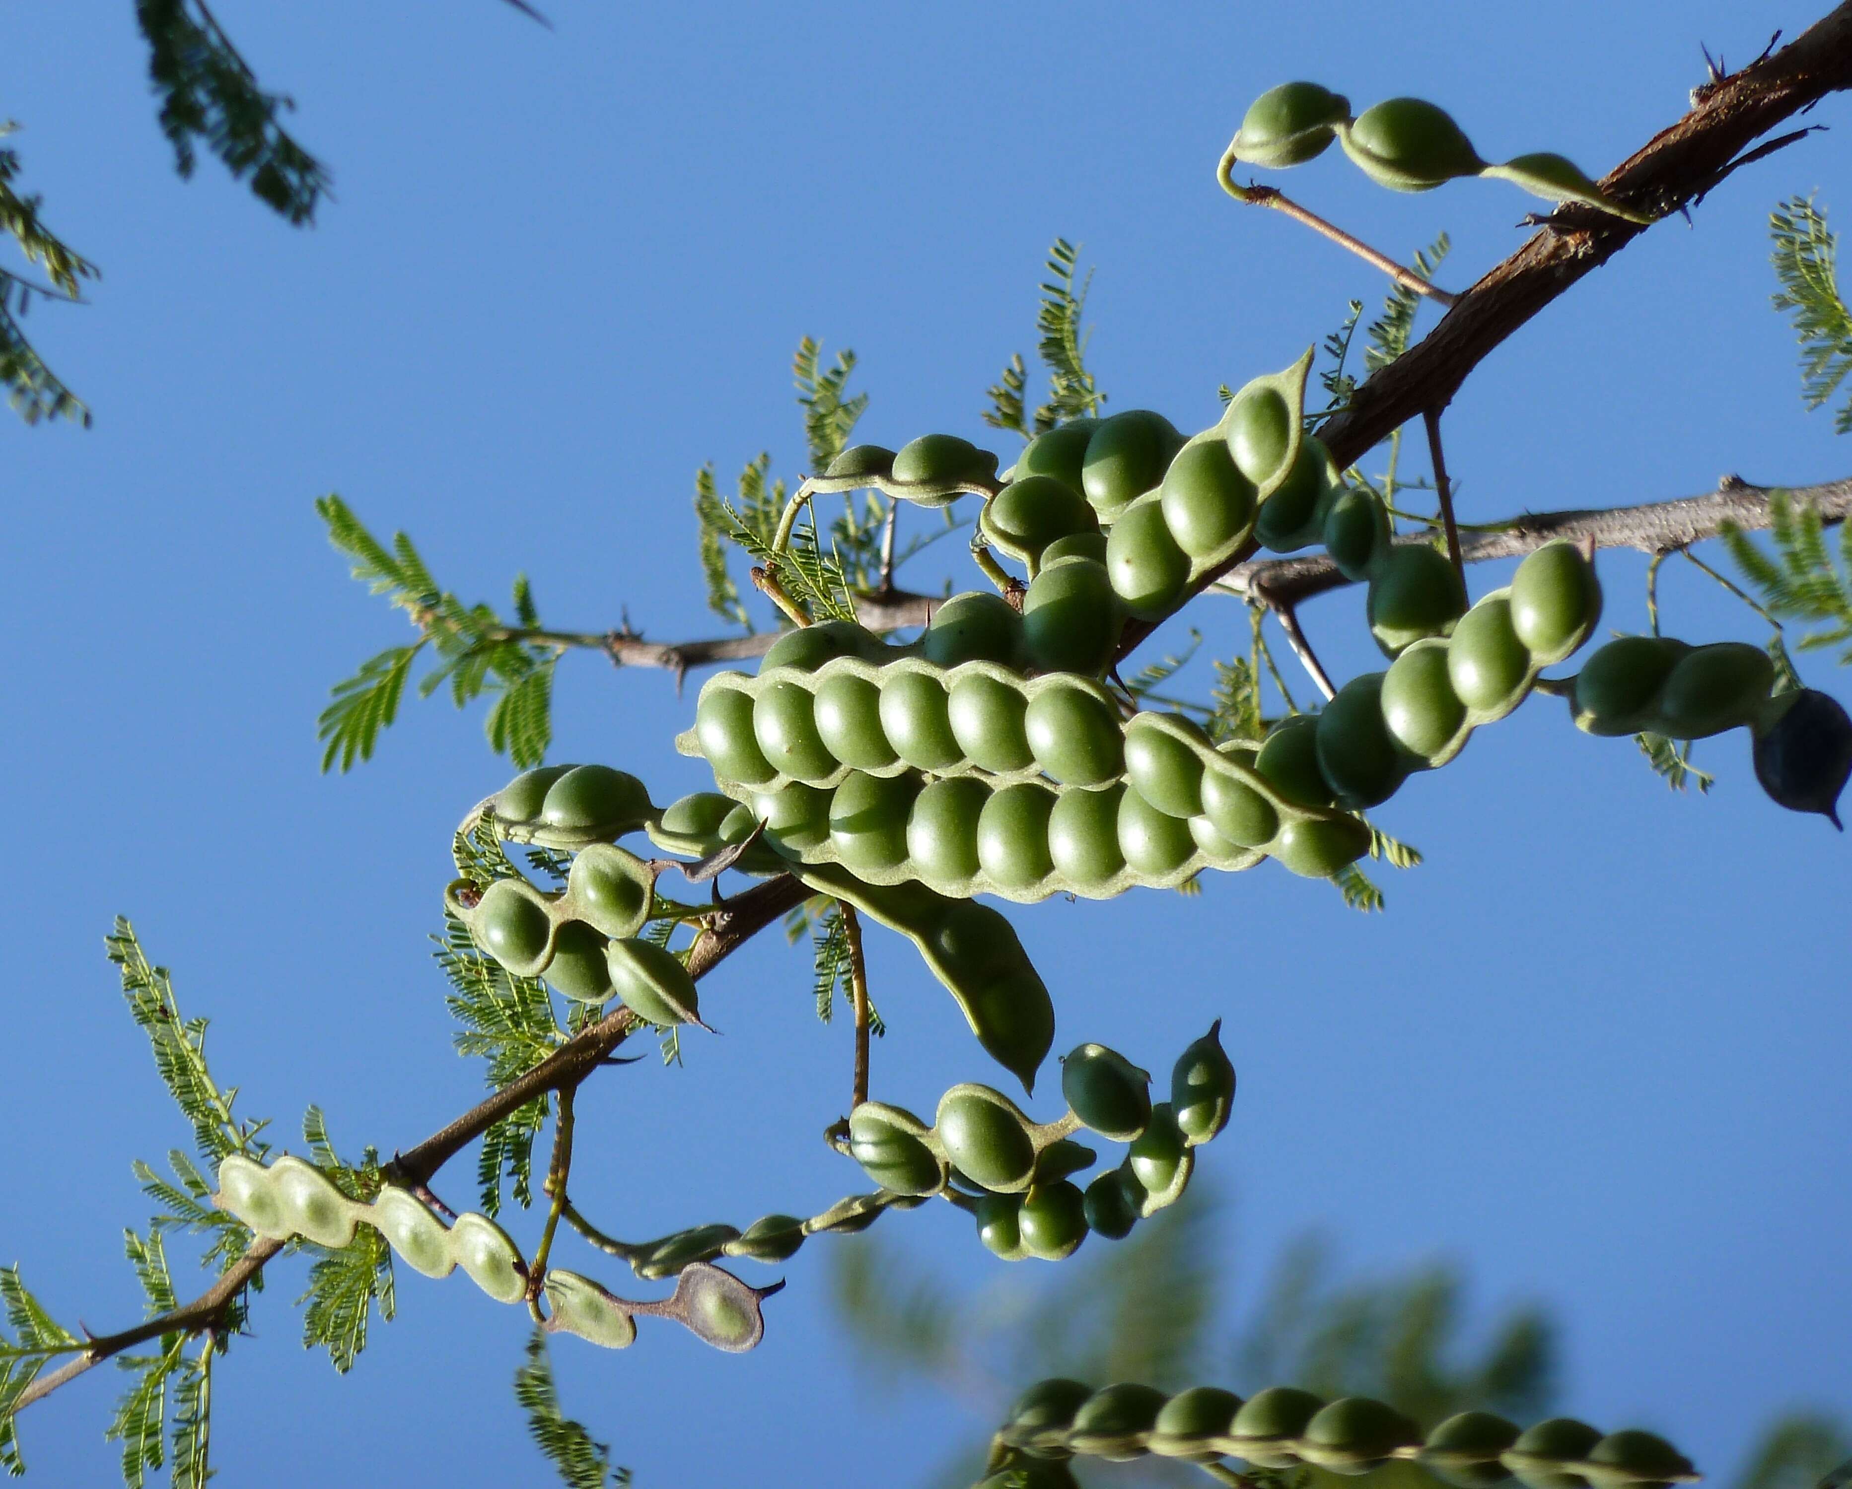
[[1348, 98], [1306, 81], [1282, 83], [1254, 100], [1222, 157], [1222, 181], [1232, 185], [1228, 169], [1235, 163], [1269, 170], [1302, 165], [1322, 156], [1332, 141], [1391, 191], [1433, 191], [1461, 176], [1485, 176], [1546, 202], [1580, 202], [1628, 222], [1652, 220], [1606, 194], [1563, 156], [1533, 152], [1502, 165], [1480, 159], [1454, 117], [1435, 104], [1385, 98], [1352, 117]]

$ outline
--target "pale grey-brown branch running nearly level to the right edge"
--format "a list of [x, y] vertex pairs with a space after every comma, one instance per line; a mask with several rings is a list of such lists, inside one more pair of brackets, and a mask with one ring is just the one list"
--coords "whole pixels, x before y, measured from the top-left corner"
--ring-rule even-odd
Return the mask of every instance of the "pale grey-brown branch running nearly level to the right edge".
[[[1669, 554], [1717, 537], [1726, 524], [1743, 532], [1761, 532], [1772, 522], [1769, 498], [1780, 491], [1796, 506], [1813, 507], [1822, 522], [1852, 517], [1852, 480], [1826, 485], [1763, 487], [1737, 476], [1724, 476], [1708, 496], [1682, 496], [1676, 502], [1648, 502], [1639, 507], [1539, 511], [1513, 517], [1498, 532], [1461, 533], [1459, 556], [1467, 563], [1522, 557], [1558, 537], [1572, 543], [1593, 541], [1596, 548], [1639, 548], [1643, 554]], [[1398, 543], [1426, 543], [1413, 533]], [[1252, 559], [1230, 569], [1215, 589], [1276, 607], [1291, 607], [1313, 594], [1348, 585], [1328, 554]]]

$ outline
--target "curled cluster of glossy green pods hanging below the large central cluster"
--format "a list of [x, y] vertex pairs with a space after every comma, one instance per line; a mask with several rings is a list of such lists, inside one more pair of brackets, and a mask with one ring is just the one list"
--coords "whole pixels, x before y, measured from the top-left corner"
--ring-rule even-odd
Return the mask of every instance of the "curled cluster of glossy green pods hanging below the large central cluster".
[[[1117, 1241], [1182, 1198], [1193, 1150], [1228, 1124], [1235, 1069], [1217, 1020], [1178, 1057], [1169, 1102], [1154, 1106], [1150, 1074], [1104, 1045], [1082, 1045], [1063, 1059], [1061, 1095], [1069, 1109], [1054, 1122], [1035, 1122], [976, 1083], [946, 1091], [932, 1126], [906, 1107], [863, 1102], [848, 1117], [850, 1156], [883, 1193], [946, 1195], [972, 1209], [978, 1237], [1006, 1261], [1061, 1261], [1089, 1230]], [[1130, 1145], [1120, 1167], [1085, 1191], [1070, 1176], [1093, 1167], [1096, 1154], [1069, 1141], [1080, 1128]]]

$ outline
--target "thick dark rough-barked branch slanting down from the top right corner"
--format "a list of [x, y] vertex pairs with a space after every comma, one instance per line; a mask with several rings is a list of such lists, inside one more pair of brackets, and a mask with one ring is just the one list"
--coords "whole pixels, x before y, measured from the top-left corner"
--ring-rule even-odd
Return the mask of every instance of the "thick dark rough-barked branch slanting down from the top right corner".
[[[1693, 107], [1602, 178], [1602, 191], [1646, 213], [1674, 213], [1728, 176], [1743, 152], [1828, 93], [1852, 87], [1852, 0], [1789, 46], [1693, 93]], [[1448, 404], [1489, 352], [1537, 311], [1646, 231], [1609, 213], [1563, 206], [1406, 356], [1358, 389], [1320, 430], [1354, 465], [1409, 419]]]

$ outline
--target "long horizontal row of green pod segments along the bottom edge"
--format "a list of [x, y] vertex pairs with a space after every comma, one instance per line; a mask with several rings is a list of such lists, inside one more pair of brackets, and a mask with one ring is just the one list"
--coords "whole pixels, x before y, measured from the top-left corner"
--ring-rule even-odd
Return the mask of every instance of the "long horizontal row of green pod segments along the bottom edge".
[[1167, 1396], [1130, 1382], [1095, 1391], [1061, 1378], [1037, 1382], [1017, 1400], [989, 1467], [1000, 1470], [1019, 1456], [1124, 1463], [1146, 1454], [1187, 1463], [1241, 1458], [1259, 1469], [1311, 1463], [1337, 1474], [1413, 1459], [1459, 1489], [1491, 1489], [1509, 1478], [1526, 1489], [1663, 1489], [1698, 1478], [1663, 1437], [1637, 1430], [1604, 1435], [1570, 1417], [1522, 1430], [1489, 1411], [1463, 1411], [1422, 1435], [1370, 1396], [1326, 1402], [1291, 1385], [1248, 1400], [1213, 1385]]

